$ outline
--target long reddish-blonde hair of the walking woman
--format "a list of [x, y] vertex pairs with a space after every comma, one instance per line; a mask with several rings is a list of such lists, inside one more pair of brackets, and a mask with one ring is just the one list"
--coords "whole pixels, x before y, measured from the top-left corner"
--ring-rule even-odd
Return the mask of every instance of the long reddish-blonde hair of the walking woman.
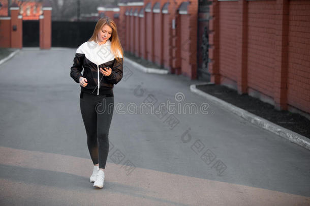
[[90, 39], [88, 41], [89, 42], [95, 41], [96, 43], [98, 43], [97, 42], [97, 35], [98, 35], [99, 31], [101, 30], [101, 28], [106, 24], [112, 28], [112, 35], [109, 38], [109, 40], [111, 41], [111, 53], [114, 54], [116, 61], [119, 62], [120, 58], [118, 57], [117, 51], [120, 52], [122, 58], [124, 56], [123, 55], [124, 52], [123, 52], [123, 49], [120, 45], [120, 41], [119, 41], [118, 35], [117, 35], [117, 27], [116, 27], [116, 24], [113, 21], [113, 19], [111, 19], [107, 16], [100, 18], [96, 23], [94, 33], [92, 34], [92, 36], [90, 37]]

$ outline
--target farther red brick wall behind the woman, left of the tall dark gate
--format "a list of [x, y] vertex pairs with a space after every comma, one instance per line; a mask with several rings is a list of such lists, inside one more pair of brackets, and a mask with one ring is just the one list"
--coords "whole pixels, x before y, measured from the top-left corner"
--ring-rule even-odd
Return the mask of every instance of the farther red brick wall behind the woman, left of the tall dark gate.
[[[120, 6], [120, 16], [123, 14], [125, 20], [120, 21], [122, 42], [126, 51], [139, 55], [148, 61], [164, 66], [173, 74], [183, 74], [192, 79], [197, 78], [197, 12], [198, 0], [189, 1], [188, 15], [178, 14], [178, 8], [185, 0], [145, 0], [144, 6], [160, 2], [160, 8], [169, 2], [168, 14], [145, 12], [144, 17], [126, 16], [126, 10], [142, 8], [142, 6]], [[164, 20], [165, 18], [165, 20]], [[183, 20], [181, 20], [181, 18]], [[133, 19], [133, 20], [131, 20]], [[176, 28], [172, 29], [172, 20], [176, 22]], [[184, 46], [181, 61], [181, 26], [187, 31], [184, 36]], [[183, 66], [181, 66], [183, 65]]]

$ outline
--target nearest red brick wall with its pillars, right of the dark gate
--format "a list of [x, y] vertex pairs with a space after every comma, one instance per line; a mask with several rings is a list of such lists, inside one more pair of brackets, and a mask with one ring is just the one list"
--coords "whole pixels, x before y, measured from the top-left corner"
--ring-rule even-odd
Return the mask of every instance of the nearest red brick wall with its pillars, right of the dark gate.
[[309, 11], [306, 0], [213, 0], [211, 81], [276, 109], [310, 113]]

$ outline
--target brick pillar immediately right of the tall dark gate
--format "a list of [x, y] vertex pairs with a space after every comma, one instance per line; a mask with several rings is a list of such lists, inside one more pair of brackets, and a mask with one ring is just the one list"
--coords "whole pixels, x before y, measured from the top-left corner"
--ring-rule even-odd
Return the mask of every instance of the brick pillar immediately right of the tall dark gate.
[[211, 82], [215, 84], [220, 84], [220, 62], [219, 62], [219, 4], [217, 0], [210, 0], [212, 5], [210, 5], [210, 21], [209, 21], [209, 58], [208, 63], [209, 72], [211, 76]]

